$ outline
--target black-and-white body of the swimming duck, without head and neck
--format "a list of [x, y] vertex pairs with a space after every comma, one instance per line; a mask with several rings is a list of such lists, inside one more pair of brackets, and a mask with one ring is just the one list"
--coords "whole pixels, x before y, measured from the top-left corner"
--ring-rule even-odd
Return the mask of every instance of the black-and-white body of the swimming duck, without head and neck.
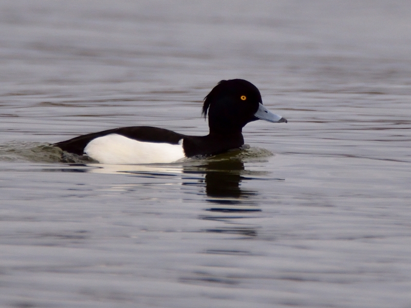
[[168, 129], [131, 126], [79, 136], [54, 144], [105, 164], [172, 163], [196, 155], [216, 155], [244, 144], [241, 133], [186, 136]]

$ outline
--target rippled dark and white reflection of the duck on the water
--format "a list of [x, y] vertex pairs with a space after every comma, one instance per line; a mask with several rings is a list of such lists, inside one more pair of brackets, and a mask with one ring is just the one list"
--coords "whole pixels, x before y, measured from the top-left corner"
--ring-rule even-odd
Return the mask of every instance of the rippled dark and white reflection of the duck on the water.
[[[257, 202], [258, 191], [242, 188], [241, 184], [244, 181], [257, 180], [263, 175], [262, 173], [266, 174], [266, 172], [246, 170], [241, 159], [203, 159], [168, 165], [76, 164], [65, 165], [60, 171], [170, 179], [167, 183], [176, 183], [178, 179], [181, 180], [184, 192], [192, 194], [194, 189], [197, 190], [197, 195], [203, 195], [205, 190], [206, 203], [210, 206], [204, 208], [199, 219], [223, 223], [223, 225], [203, 229], [203, 232], [240, 237], [257, 236], [258, 226], [250, 225], [244, 219], [255, 218], [255, 212], [261, 211]], [[106, 190], [111, 192], [130, 190], [130, 186], [139, 185], [119, 184]]]

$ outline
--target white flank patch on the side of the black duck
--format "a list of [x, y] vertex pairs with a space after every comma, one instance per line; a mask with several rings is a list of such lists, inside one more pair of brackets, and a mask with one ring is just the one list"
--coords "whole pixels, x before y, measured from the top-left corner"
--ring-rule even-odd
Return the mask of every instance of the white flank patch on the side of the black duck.
[[172, 163], [185, 158], [182, 140], [179, 144], [142, 142], [119, 134], [91, 140], [84, 152], [110, 165]]

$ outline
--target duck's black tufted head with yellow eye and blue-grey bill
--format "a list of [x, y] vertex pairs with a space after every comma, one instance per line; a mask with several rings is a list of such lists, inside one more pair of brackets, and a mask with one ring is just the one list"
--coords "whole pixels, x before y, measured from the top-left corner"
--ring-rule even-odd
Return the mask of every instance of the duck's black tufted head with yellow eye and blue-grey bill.
[[261, 94], [252, 83], [242, 79], [222, 80], [204, 98], [204, 118], [209, 115], [211, 133], [236, 133], [249, 122], [287, 120], [263, 106]]

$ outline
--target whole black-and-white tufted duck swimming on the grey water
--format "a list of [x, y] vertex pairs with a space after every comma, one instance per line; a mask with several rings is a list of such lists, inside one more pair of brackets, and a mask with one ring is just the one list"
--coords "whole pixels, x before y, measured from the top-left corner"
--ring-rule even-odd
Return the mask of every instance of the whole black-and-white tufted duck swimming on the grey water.
[[174, 163], [197, 156], [214, 156], [244, 145], [242, 128], [253, 121], [287, 123], [269, 111], [251, 82], [221, 80], [204, 98], [202, 115], [207, 136], [188, 136], [152, 126], [129, 126], [84, 134], [52, 144], [63, 151], [88, 156], [101, 164]]

